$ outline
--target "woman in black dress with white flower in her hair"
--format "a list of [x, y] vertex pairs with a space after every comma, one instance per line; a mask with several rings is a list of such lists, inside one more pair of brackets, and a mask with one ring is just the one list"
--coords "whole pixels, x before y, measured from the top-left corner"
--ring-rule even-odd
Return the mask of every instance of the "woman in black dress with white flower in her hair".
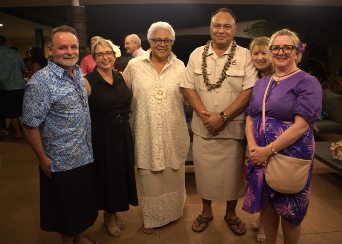
[[91, 117], [92, 145], [98, 174], [99, 210], [114, 237], [121, 235], [125, 222], [116, 212], [138, 205], [134, 153], [128, 123], [132, 94], [123, 74], [112, 70], [120, 49], [110, 40], [101, 39], [91, 49], [96, 62], [85, 76]]

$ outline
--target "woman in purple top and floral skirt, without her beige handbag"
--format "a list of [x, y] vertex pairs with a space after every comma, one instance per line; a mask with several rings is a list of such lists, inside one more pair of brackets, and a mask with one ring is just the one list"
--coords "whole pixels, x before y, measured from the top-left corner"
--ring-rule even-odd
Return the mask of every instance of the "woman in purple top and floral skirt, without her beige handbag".
[[[300, 224], [309, 204], [315, 143], [312, 124], [321, 115], [322, 89], [315, 77], [297, 67], [305, 49], [303, 46], [292, 31], [283, 29], [273, 34], [270, 51], [275, 74], [256, 81], [246, 109], [250, 162], [243, 209], [250, 213], [261, 210], [269, 244], [277, 241], [279, 219], [285, 244], [298, 243]], [[271, 77], [265, 106], [267, 144], [262, 127], [262, 100]], [[299, 193], [279, 193], [266, 183], [265, 164], [277, 152], [299, 159], [312, 159], [308, 181]]]

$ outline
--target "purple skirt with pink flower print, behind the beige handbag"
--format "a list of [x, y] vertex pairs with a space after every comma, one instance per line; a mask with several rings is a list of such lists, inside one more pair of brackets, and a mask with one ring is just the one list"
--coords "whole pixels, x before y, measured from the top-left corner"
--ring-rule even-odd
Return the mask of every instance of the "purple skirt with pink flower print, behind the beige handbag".
[[[266, 117], [266, 136], [268, 143], [275, 141], [293, 122], [283, 122]], [[262, 128], [262, 116], [254, 118], [254, 137], [259, 146], [266, 146]], [[299, 159], [310, 159], [314, 150], [312, 126], [299, 140], [278, 153]], [[257, 166], [251, 160], [247, 168], [248, 189], [242, 209], [249, 213], [257, 213], [268, 207], [273, 201], [273, 209], [291, 224], [299, 225], [306, 215], [309, 205], [310, 183], [312, 178], [313, 160], [310, 166], [309, 178], [302, 191], [297, 194], [283, 194], [274, 191], [265, 181], [265, 166]]]

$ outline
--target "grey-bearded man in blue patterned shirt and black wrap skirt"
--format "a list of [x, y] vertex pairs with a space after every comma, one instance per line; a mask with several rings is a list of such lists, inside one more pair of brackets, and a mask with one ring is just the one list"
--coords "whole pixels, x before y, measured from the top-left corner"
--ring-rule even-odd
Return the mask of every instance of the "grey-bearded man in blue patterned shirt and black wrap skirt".
[[96, 169], [78, 38], [69, 26], [51, 31], [51, 59], [25, 87], [22, 122], [40, 164], [41, 228], [64, 243], [94, 243], [82, 234], [97, 218]]

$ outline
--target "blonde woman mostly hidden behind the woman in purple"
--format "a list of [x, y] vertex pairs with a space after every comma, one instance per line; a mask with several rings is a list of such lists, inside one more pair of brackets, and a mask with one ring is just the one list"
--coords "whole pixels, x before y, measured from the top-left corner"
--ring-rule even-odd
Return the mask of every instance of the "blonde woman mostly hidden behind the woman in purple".
[[[268, 49], [270, 41], [271, 40], [268, 37], [257, 37], [253, 39], [249, 45], [249, 50], [252, 53], [252, 62], [257, 69], [259, 79], [274, 73], [274, 67]], [[251, 224], [250, 228], [254, 231], [258, 231], [256, 234], [257, 243], [266, 242], [260, 214], [257, 220]]]

